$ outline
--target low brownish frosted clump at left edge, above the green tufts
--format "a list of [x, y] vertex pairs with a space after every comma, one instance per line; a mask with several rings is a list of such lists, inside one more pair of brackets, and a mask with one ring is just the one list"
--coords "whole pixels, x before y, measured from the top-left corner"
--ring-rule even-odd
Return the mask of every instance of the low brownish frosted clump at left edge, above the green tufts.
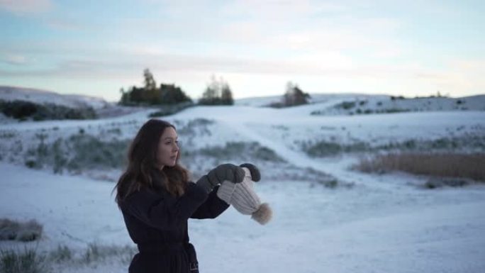
[[35, 220], [27, 222], [0, 219], [0, 240], [18, 240], [29, 242], [38, 240], [42, 235], [43, 226]]

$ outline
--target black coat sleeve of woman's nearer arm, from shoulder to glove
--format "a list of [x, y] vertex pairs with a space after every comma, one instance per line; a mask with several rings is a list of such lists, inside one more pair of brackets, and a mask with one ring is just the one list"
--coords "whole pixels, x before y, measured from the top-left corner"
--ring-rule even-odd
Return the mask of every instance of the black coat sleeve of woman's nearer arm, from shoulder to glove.
[[172, 230], [187, 221], [207, 197], [206, 191], [194, 183], [189, 183], [185, 194], [178, 198], [140, 189], [128, 196], [121, 208], [152, 228]]

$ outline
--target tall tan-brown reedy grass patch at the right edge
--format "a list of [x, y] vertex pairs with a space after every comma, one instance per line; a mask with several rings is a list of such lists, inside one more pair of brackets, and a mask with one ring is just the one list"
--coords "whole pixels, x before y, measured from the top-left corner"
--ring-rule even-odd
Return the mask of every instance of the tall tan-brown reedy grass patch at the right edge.
[[390, 153], [362, 157], [354, 168], [362, 172], [396, 170], [432, 177], [452, 177], [485, 182], [484, 166], [485, 154], [483, 153]]

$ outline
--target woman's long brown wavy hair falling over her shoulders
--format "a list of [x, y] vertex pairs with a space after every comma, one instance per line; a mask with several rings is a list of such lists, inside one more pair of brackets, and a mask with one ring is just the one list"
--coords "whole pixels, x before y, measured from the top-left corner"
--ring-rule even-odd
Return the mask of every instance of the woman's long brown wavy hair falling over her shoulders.
[[189, 172], [179, 165], [180, 150], [177, 153], [176, 164], [165, 166], [162, 170], [157, 167], [157, 150], [160, 138], [171, 123], [157, 119], [150, 119], [138, 131], [128, 149], [128, 167], [121, 174], [116, 190], [116, 203], [121, 201], [142, 187], [160, 191], [166, 189], [173, 196], [184, 194]]

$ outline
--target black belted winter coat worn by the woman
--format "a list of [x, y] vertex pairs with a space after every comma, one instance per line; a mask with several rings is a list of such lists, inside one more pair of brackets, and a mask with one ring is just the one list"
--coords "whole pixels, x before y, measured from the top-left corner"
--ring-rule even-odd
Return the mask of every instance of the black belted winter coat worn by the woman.
[[130, 194], [120, 208], [130, 238], [138, 245], [130, 273], [197, 273], [194, 246], [189, 243], [189, 218], [216, 218], [228, 204], [218, 198], [217, 188], [207, 194], [189, 182], [184, 195], [175, 197], [164, 189], [143, 188]]

